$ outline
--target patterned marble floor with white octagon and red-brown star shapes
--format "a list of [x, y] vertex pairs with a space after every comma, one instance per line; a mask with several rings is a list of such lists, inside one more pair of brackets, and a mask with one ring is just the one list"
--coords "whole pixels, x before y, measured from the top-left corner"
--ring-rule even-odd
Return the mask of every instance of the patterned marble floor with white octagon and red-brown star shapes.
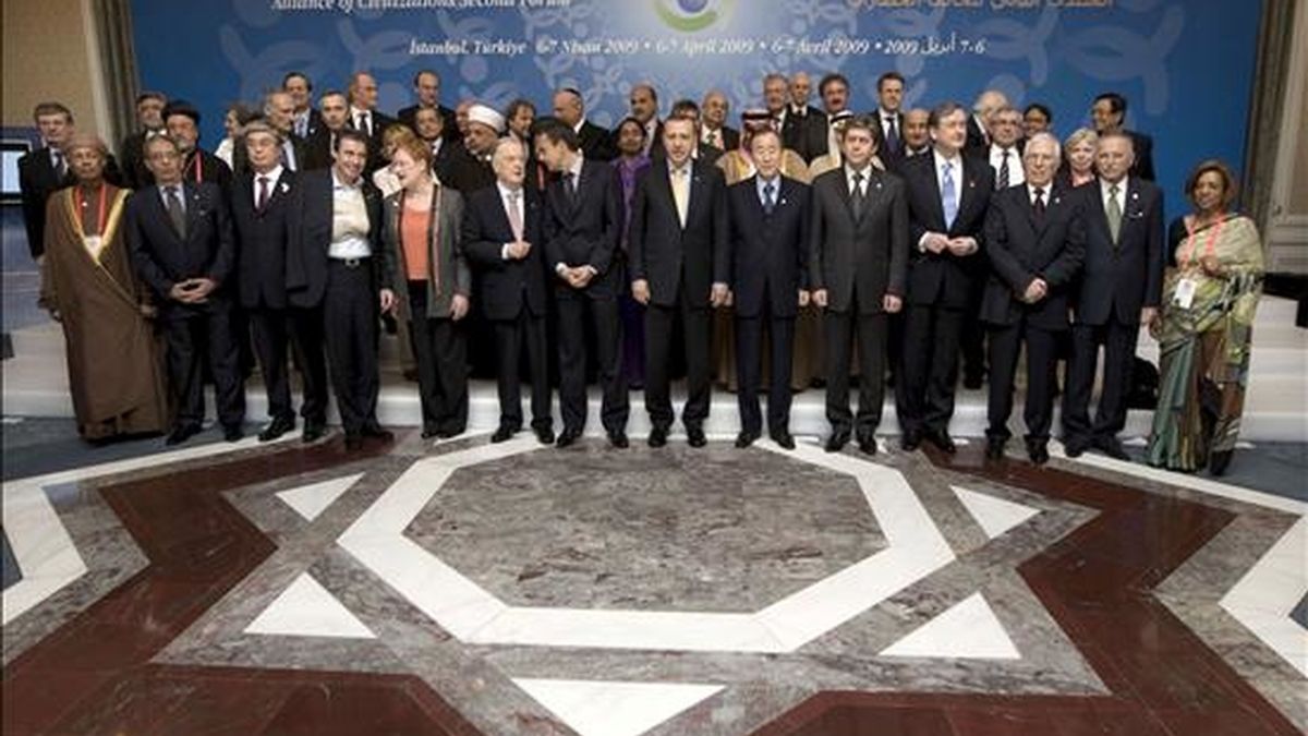
[[7, 735], [1308, 728], [1301, 444], [0, 433]]

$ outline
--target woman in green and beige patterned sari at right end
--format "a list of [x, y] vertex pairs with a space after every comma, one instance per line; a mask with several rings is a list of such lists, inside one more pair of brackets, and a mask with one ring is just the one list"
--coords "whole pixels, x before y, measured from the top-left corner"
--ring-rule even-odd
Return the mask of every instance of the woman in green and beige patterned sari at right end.
[[1249, 380], [1253, 316], [1262, 295], [1262, 242], [1253, 220], [1231, 212], [1235, 177], [1220, 161], [1185, 182], [1194, 212], [1172, 223], [1163, 287], [1160, 386], [1150, 465], [1226, 473]]

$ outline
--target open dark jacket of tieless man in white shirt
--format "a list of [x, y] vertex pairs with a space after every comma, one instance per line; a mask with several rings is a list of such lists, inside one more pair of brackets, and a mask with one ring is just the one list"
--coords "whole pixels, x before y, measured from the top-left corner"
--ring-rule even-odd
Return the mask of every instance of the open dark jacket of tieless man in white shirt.
[[[292, 233], [286, 250], [286, 301], [292, 306], [313, 308], [322, 304], [327, 291], [335, 182], [331, 169], [305, 172], [296, 181], [300, 186], [292, 189], [288, 204], [300, 212], [300, 232]], [[368, 244], [375, 263], [382, 257], [382, 193], [366, 178], [360, 181], [360, 186], [368, 208]], [[379, 266], [373, 267], [373, 282], [379, 288]]]

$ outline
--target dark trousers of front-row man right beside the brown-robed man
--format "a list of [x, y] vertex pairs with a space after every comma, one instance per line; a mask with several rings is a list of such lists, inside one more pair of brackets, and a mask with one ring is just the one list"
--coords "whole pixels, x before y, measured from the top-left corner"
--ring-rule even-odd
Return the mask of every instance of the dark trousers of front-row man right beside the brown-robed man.
[[204, 420], [201, 360], [208, 355], [218, 422], [224, 427], [239, 427], [245, 420], [245, 381], [232, 334], [232, 304], [211, 296], [205, 312], [169, 314], [164, 323], [169, 385], [177, 402], [175, 424], [198, 427]]

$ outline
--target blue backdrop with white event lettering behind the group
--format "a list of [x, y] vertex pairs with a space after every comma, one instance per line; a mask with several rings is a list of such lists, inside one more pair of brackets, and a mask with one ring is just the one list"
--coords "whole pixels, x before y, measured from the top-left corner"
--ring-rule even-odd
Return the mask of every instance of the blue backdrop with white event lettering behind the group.
[[[133, 0], [148, 89], [204, 113], [207, 147], [224, 106], [258, 100], [292, 69], [315, 93], [356, 69], [381, 109], [411, 103], [420, 68], [442, 102], [504, 107], [576, 86], [610, 126], [649, 80], [661, 107], [725, 90], [732, 119], [761, 102], [766, 72], [845, 73], [855, 110], [897, 69], [908, 105], [967, 103], [985, 88], [1054, 109], [1061, 136], [1088, 122], [1095, 94], [1124, 93], [1129, 126], [1155, 138], [1169, 210], [1196, 161], [1243, 162], [1261, 0]], [[815, 79], [816, 81], [816, 79]]]

